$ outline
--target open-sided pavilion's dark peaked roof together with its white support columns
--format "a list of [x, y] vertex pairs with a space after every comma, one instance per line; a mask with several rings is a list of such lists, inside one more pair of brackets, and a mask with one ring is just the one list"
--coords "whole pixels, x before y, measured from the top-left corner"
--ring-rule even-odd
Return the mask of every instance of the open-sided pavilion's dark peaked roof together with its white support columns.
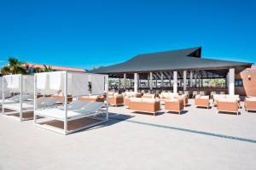
[[[134, 90], [137, 91], [138, 79], [148, 80], [148, 88], [153, 88], [153, 80], [173, 81], [173, 91], [177, 92], [177, 80], [183, 80], [183, 88], [188, 82], [190, 87], [200, 84], [199, 78], [227, 78], [230, 93], [234, 93], [235, 72], [245, 70], [252, 63], [220, 59], [201, 58], [201, 47], [186, 48], [137, 56], [117, 65], [101, 67], [90, 72], [108, 74], [109, 77], [134, 79]], [[228, 76], [227, 76], [228, 75]], [[193, 81], [193, 79], [195, 79]], [[189, 81], [188, 81], [189, 80]], [[125, 87], [124, 87], [125, 88]]]

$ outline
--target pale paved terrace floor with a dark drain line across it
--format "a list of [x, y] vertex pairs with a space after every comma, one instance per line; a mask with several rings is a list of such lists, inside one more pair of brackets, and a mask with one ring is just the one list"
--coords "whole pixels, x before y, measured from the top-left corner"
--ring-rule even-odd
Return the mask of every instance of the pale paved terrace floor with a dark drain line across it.
[[256, 113], [189, 105], [158, 116], [110, 107], [108, 123], [67, 136], [0, 116], [0, 169], [256, 168]]

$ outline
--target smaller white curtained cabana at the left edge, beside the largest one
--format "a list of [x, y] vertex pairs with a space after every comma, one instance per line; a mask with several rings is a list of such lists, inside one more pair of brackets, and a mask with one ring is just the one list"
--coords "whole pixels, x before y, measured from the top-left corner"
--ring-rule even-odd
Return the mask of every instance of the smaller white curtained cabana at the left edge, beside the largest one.
[[[24, 112], [33, 111], [33, 81], [32, 75], [6, 75], [2, 80], [2, 112], [5, 116], [19, 114], [19, 120], [23, 121]], [[13, 94], [9, 97], [9, 94]], [[8, 95], [7, 98], [6, 95]], [[9, 111], [5, 111], [5, 110]], [[16, 116], [14, 116], [16, 117]]]

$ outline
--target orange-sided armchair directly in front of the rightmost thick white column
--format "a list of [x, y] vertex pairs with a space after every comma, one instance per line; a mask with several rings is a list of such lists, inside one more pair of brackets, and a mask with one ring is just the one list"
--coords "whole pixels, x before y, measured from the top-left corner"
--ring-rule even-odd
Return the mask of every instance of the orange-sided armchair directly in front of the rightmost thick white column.
[[224, 112], [234, 112], [238, 116], [238, 101], [237, 99], [218, 99], [217, 109]]

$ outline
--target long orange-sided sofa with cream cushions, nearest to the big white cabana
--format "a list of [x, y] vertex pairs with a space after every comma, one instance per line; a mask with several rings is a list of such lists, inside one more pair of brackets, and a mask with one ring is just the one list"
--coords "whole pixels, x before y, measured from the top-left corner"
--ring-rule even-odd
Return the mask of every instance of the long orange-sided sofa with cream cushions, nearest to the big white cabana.
[[129, 108], [133, 111], [152, 113], [160, 111], [160, 101], [147, 98], [130, 98]]

